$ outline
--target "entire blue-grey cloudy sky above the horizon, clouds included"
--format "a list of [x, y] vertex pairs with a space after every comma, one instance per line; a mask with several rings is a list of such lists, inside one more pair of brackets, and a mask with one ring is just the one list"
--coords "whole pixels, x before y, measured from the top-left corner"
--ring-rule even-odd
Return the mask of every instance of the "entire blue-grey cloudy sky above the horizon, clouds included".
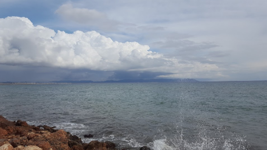
[[0, 0], [0, 82], [267, 80], [266, 0]]

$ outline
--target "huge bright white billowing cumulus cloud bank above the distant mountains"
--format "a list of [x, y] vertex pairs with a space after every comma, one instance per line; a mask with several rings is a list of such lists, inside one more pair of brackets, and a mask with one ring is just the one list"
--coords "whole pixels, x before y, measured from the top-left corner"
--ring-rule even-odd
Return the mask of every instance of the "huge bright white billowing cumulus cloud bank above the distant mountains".
[[[180, 63], [137, 42], [117, 42], [96, 31], [55, 32], [34, 26], [24, 17], [0, 19], [0, 64], [89, 69], [101, 71], [150, 71], [183, 77], [214, 71], [214, 64]], [[178, 75], [179, 74], [179, 75]], [[171, 77], [165, 75], [164, 77]], [[186, 76], [184, 76], [186, 77]]]

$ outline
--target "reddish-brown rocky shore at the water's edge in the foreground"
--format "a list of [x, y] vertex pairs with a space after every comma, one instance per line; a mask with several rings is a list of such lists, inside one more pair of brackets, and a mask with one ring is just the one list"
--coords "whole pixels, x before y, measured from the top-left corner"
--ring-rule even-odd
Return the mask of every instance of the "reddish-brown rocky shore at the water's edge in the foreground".
[[[150, 148], [144, 146], [140, 149]], [[46, 125], [30, 126], [26, 121], [12, 122], [0, 116], [0, 150], [117, 150], [117, 148], [109, 141], [83, 143], [81, 138], [64, 130], [56, 130]]]

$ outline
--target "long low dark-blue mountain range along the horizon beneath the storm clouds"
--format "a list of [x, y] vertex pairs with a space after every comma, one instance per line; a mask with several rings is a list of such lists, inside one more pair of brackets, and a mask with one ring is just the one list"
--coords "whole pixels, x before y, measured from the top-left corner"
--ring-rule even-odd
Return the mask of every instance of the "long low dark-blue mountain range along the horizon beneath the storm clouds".
[[[136, 82], [199, 82], [195, 79], [124, 79], [124, 80], [106, 80], [106, 81], [91, 81], [91, 80], [60, 80], [45, 82], [46, 84], [55, 83], [136, 83]], [[2, 82], [4, 84], [31, 84], [44, 82]]]

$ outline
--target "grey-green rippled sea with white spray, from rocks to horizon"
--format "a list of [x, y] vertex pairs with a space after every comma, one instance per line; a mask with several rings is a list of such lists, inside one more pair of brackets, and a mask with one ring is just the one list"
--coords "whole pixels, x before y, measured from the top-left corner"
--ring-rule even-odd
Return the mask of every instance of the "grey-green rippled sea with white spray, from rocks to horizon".
[[0, 85], [0, 115], [118, 149], [267, 149], [267, 81]]

